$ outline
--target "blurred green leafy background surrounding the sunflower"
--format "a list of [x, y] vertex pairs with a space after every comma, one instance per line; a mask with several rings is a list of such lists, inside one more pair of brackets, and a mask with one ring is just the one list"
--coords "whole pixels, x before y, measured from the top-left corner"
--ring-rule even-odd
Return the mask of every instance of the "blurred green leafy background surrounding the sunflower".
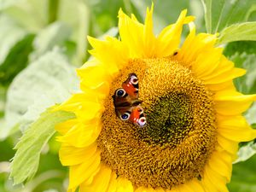
[[[211, 23], [208, 21], [206, 25], [203, 3], [206, 5], [207, 2], [154, 1], [154, 32], [157, 34], [164, 26], [176, 21], [183, 9], [196, 16], [197, 32], [222, 32], [231, 24], [256, 20], [255, 0], [218, 0], [212, 3]], [[86, 36], [118, 37], [119, 8], [143, 21], [146, 8], [150, 6], [149, 0], [0, 0], [1, 192], [67, 189], [68, 172], [58, 160], [59, 144], [54, 137], [42, 149], [35, 177], [25, 186], [13, 186], [9, 165], [15, 155], [15, 143], [40, 113], [65, 101], [78, 90], [75, 68], [90, 57]], [[183, 37], [186, 32], [187, 28]], [[240, 41], [222, 46], [225, 47], [224, 54], [235, 61], [237, 67], [248, 69], [245, 77], [236, 79], [237, 89], [245, 94], [256, 93], [255, 42]], [[255, 114], [254, 104], [246, 113], [254, 127]], [[229, 184], [231, 192], [256, 191], [255, 151], [255, 141], [241, 143]]]

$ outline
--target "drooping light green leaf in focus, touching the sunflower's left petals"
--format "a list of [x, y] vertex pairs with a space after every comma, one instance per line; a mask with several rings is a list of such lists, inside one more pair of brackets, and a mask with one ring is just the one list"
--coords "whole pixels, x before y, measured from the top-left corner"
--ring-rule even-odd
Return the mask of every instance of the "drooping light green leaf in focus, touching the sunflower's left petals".
[[15, 184], [27, 182], [35, 175], [41, 151], [54, 135], [55, 125], [73, 118], [73, 113], [53, 112], [49, 109], [24, 132], [15, 146], [17, 151], [11, 163], [10, 177], [14, 179]]

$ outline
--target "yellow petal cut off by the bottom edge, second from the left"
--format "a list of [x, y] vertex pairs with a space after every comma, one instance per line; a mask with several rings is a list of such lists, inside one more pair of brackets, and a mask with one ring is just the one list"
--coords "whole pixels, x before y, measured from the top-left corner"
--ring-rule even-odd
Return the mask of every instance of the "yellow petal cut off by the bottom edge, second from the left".
[[90, 185], [87, 185], [87, 183], [80, 185], [80, 192], [107, 192], [111, 172], [108, 166], [101, 165], [99, 172], [96, 173]]

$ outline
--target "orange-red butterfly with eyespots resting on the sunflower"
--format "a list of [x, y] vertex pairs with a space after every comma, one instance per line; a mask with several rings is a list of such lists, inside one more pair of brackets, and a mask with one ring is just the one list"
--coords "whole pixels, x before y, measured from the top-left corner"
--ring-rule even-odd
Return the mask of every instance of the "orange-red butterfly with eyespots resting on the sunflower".
[[138, 79], [136, 73], [130, 73], [122, 84], [122, 88], [114, 91], [113, 105], [115, 113], [121, 120], [128, 120], [139, 126], [147, 123], [141, 107], [142, 101], [138, 99]]

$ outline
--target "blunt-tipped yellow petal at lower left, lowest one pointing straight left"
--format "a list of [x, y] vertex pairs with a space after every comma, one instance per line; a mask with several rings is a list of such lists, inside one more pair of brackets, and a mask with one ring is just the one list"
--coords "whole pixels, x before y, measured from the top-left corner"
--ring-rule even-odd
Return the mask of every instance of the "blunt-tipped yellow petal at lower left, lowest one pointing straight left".
[[63, 166], [74, 166], [89, 160], [95, 153], [97, 144], [92, 143], [88, 147], [76, 148], [62, 144], [60, 148], [60, 160]]

